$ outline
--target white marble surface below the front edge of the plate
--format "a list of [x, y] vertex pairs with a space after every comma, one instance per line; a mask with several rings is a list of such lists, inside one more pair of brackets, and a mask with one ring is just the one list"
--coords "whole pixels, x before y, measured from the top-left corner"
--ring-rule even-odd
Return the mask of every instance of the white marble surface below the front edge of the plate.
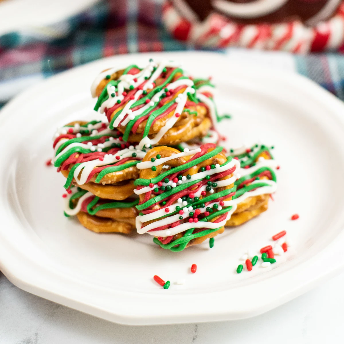
[[[342, 343], [344, 274], [247, 320], [123, 326], [41, 299], [0, 275], [1, 344]], [[259, 295], [257, 295], [259, 297]]]

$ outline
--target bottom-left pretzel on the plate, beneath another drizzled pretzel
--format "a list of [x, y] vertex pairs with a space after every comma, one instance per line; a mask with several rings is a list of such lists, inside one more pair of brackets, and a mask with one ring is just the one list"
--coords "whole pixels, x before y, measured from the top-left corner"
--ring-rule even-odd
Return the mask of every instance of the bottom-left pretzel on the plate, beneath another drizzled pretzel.
[[65, 215], [76, 215], [79, 222], [96, 233], [131, 233], [135, 228], [138, 214], [135, 205], [138, 200], [127, 199], [125, 202], [112, 202], [94, 196], [80, 188], [68, 195], [65, 201]]

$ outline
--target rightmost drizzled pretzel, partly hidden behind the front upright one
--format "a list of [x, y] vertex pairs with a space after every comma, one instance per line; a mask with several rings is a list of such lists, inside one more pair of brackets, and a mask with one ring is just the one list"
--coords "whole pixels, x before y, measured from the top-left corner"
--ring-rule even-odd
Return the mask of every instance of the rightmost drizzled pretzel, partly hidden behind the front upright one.
[[[234, 150], [231, 151], [234, 153]], [[271, 193], [276, 191], [275, 172], [278, 165], [272, 160], [269, 147], [256, 144], [250, 148], [241, 148], [233, 156], [241, 160], [239, 174], [243, 176], [235, 181], [237, 191], [233, 198], [238, 203], [226, 226], [241, 225], [265, 212]], [[256, 185], [258, 187], [252, 189]]]

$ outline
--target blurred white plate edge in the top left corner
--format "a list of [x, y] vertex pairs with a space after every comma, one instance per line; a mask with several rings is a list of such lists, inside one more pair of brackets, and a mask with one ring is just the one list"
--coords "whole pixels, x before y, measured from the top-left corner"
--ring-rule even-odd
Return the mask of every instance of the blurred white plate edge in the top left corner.
[[[54, 31], [42, 28], [86, 10], [99, 0], [4, 0], [0, 1], [0, 35], [27, 31], [53, 35]], [[54, 28], [55, 30], [57, 28]], [[66, 31], [60, 28], [59, 31]]]

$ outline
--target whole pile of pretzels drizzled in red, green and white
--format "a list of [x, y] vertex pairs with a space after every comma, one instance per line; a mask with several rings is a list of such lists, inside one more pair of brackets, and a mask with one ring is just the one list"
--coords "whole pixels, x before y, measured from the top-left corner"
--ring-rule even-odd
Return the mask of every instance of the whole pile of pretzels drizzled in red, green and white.
[[276, 191], [271, 147], [219, 146], [213, 87], [171, 61], [100, 73], [91, 91], [108, 122], [72, 122], [54, 137], [65, 215], [181, 251], [264, 212]]

